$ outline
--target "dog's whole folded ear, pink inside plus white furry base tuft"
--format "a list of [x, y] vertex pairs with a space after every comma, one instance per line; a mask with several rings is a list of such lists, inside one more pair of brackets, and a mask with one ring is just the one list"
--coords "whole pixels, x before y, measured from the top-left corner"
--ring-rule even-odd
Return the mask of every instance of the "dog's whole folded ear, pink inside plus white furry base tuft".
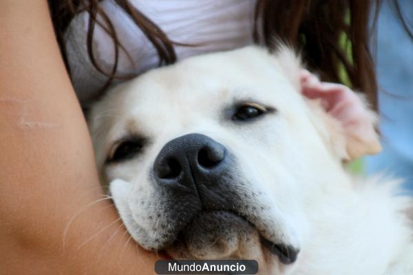
[[323, 118], [328, 128], [323, 135], [343, 161], [381, 151], [377, 115], [361, 95], [344, 85], [321, 83], [302, 69], [299, 55], [288, 45], [275, 41], [273, 54], [293, 87], [310, 99], [310, 106]]

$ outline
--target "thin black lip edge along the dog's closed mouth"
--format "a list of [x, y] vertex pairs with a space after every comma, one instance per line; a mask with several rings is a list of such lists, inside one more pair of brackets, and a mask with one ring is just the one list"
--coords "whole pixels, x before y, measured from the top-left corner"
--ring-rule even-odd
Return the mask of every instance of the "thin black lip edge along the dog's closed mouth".
[[[272, 241], [269, 241], [264, 236], [262, 236], [260, 230], [257, 229], [255, 224], [248, 221], [248, 219], [246, 219], [246, 217], [244, 217], [242, 214], [234, 212], [233, 210], [202, 210], [201, 212], [198, 213], [198, 215], [202, 214], [202, 212], [220, 212], [220, 211], [229, 212], [237, 217], [240, 217], [241, 219], [244, 219], [244, 221], [246, 221], [252, 228], [255, 228], [258, 234], [260, 234], [260, 241], [261, 241], [262, 246], [266, 248], [271, 254], [274, 254], [275, 256], [277, 256], [279, 261], [281, 261], [285, 265], [294, 263], [297, 260], [299, 250], [297, 250], [296, 248], [293, 248], [293, 246], [288, 245], [288, 244], [273, 243]], [[187, 227], [181, 230], [181, 232], [186, 229]]]

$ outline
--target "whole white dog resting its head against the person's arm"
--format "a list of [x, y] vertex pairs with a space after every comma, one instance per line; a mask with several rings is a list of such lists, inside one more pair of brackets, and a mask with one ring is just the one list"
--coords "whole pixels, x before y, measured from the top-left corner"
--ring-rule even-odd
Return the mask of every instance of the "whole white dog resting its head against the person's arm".
[[343, 162], [377, 153], [374, 114], [286, 47], [188, 58], [114, 87], [89, 115], [127, 230], [176, 259], [260, 274], [413, 274], [409, 197]]

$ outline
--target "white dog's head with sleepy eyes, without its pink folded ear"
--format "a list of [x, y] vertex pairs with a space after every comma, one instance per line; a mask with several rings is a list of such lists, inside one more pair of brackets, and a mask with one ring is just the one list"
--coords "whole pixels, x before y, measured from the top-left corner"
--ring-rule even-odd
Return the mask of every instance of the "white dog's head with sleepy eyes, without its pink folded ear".
[[142, 247], [267, 270], [295, 263], [343, 159], [378, 148], [329, 113], [337, 100], [304, 95], [300, 77], [286, 47], [245, 47], [155, 69], [94, 105], [98, 169]]

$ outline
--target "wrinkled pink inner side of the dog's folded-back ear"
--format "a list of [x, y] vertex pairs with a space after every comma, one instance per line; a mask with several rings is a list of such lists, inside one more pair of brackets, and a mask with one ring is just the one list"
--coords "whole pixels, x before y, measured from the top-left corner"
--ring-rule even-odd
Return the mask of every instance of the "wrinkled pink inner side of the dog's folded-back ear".
[[375, 130], [377, 115], [360, 95], [344, 85], [321, 83], [305, 69], [301, 69], [300, 76], [301, 94], [317, 101], [324, 110], [330, 142], [341, 159], [347, 161], [381, 151]]

